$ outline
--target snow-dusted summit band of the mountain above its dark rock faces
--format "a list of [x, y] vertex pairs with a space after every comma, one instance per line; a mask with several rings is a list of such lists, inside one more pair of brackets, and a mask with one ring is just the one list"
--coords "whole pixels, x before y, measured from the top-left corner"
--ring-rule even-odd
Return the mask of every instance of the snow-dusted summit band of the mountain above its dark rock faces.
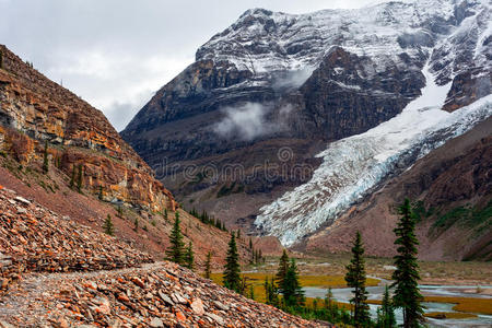
[[420, 54], [415, 47], [402, 49], [398, 43], [402, 33], [429, 34], [425, 23], [449, 21], [454, 8], [449, 0], [419, 0], [306, 14], [251, 9], [201, 46], [196, 59], [213, 60], [218, 67], [233, 63], [237, 70], [260, 78], [317, 67], [332, 46], [339, 46], [358, 56], [377, 58], [374, 69], [384, 71], [400, 61], [403, 50], [410, 57]]

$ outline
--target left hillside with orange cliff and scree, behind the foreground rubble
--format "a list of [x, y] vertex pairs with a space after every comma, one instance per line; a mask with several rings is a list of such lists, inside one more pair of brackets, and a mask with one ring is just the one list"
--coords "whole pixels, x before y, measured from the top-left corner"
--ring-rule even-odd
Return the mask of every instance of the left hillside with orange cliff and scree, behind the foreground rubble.
[[[208, 251], [214, 253], [216, 267], [223, 263], [229, 233], [179, 209], [99, 110], [4, 46], [0, 54], [0, 186], [99, 231], [109, 214], [118, 239], [157, 259], [168, 246], [177, 211], [186, 243], [194, 243], [197, 266]], [[239, 250], [249, 258], [246, 244], [239, 241]]]

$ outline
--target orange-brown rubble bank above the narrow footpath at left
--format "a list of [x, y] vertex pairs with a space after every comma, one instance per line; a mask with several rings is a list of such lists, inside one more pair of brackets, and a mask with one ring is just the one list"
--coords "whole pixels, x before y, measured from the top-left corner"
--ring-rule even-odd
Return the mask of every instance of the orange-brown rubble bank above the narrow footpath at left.
[[94, 271], [151, 261], [116, 238], [0, 189], [0, 273], [5, 285], [26, 271]]

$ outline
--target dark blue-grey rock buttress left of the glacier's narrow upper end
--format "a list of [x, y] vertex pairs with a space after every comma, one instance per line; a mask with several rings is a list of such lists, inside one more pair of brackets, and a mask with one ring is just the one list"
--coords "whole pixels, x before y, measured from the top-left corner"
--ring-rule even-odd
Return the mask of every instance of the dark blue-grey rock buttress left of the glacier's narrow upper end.
[[417, 69], [394, 67], [370, 78], [364, 67], [372, 63], [340, 47], [328, 54], [301, 87], [306, 126], [315, 127], [305, 129], [309, 137], [329, 140], [365, 132], [420, 95], [425, 81]]

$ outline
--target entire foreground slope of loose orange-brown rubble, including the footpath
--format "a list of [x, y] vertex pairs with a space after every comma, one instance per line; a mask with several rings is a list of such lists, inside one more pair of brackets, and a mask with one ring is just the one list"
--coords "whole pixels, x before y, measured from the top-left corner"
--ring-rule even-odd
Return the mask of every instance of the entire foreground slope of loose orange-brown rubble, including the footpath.
[[256, 303], [174, 263], [153, 262], [4, 188], [0, 272], [4, 328], [330, 326]]

